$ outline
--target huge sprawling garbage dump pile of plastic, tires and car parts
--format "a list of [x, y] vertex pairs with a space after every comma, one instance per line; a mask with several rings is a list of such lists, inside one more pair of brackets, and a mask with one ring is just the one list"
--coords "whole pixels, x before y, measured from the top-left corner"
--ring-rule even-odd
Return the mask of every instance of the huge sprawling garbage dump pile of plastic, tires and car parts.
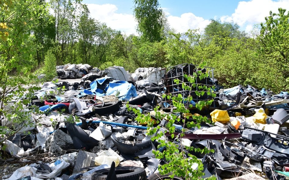
[[[89, 65], [57, 66], [60, 79], [81, 77], [81, 81], [42, 84], [31, 102], [42, 113], [33, 116], [34, 125], [23, 127], [4, 143], [13, 157], [32, 156], [42, 150], [55, 158], [50, 163], [21, 167], [2, 179], [160, 179], [157, 167], [165, 162], [152, 153], [158, 142], [146, 136], [146, 124], [135, 121], [136, 115], [126, 102], [143, 114], [150, 113], [153, 119], [156, 105], [162, 107], [163, 114], [173, 113], [172, 102], [162, 94], [179, 93], [183, 97], [191, 93], [190, 113], [207, 116], [213, 124], [185, 127], [183, 137], [184, 145], [215, 150], [209, 154], [188, 152], [202, 159], [203, 178], [249, 172], [269, 179], [288, 178], [288, 92], [274, 94], [250, 85], [223, 89], [213, 77], [213, 68], [206, 67], [200, 71], [208, 72], [209, 77], [197, 78], [194, 83], [215, 87], [216, 97], [210, 107], [198, 110], [195, 103], [211, 97], [207, 93], [198, 97], [174, 81], [186, 82], [184, 74], [192, 75], [196, 69], [192, 64], [181, 64], [138, 68], [129, 74], [120, 66], [103, 71]], [[51, 93], [63, 86], [63, 93]], [[187, 121], [194, 120], [190, 117]], [[163, 120], [160, 131], [166, 130], [165, 124]], [[176, 135], [183, 128], [178, 125]], [[24, 131], [31, 133], [25, 135]], [[167, 133], [164, 139], [174, 141]]]

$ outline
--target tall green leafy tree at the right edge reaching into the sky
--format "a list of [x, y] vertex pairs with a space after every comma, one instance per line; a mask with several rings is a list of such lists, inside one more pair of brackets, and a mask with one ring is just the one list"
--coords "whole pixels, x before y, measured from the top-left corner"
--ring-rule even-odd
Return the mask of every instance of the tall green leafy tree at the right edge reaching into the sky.
[[270, 11], [266, 22], [261, 23], [259, 40], [263, 60], [280, 72], [278, 80], [283, 83], [278, 83], [278, 90], [281, 91], [289, 90], [289, 12], [285, 14], [286, 9], [282, 8], [278, 11]]

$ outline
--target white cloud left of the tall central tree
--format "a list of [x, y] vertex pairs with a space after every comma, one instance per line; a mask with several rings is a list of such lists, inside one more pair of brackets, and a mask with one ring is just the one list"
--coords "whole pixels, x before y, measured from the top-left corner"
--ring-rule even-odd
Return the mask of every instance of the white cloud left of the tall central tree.
[[137, 22], [132, 14], [117, 13], [117, 7], [113, 4], [87, 4], [91, 18], [105, 22], [112, 29], [125, 32], [127, 35], [135, 34]]

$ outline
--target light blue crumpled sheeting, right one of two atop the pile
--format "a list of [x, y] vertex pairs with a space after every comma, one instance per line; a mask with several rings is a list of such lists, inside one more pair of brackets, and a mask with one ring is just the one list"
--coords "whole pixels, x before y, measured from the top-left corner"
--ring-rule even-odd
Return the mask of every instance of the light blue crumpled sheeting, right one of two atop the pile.
[[135, 86], [127, 81], [115, 81], [110, 82], [105, 88], [106, 95], [117, 95], [119, 100], [129, 100], [131, 97], [137, 96]]

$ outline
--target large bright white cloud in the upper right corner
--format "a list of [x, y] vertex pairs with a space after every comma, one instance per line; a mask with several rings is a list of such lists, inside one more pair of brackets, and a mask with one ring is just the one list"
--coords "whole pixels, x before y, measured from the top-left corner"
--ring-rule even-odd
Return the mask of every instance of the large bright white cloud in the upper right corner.
[[269, 11], [278, 13], [278, 8], [289, 9], [289, 0], [251, 0], [238, 3], [235, 12], [230, 16], [222, 16], [222, 22], [235, 22], [245, 29], [246, 32], [252, 30], [253, 25], [265, 22], [265, 17], [269, 16]]

